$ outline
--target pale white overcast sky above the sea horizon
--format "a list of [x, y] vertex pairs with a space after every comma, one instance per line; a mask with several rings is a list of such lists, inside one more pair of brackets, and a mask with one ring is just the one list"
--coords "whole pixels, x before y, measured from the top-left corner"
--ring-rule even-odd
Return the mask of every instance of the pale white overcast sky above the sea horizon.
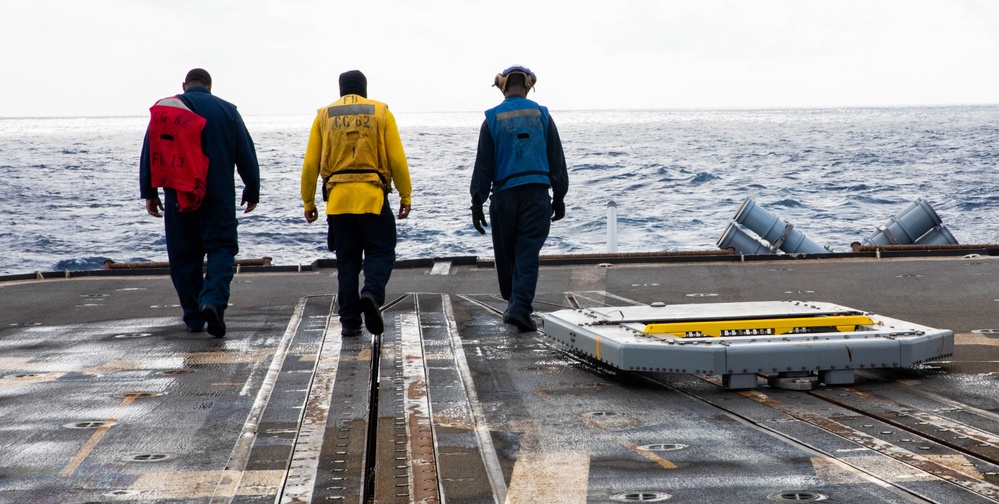
[[995, 0], [32, 0], [0, 7], [0, 117], [145, 115], [203, 67], [244, 114], [360, 69], [396, 113], [999, 103]]

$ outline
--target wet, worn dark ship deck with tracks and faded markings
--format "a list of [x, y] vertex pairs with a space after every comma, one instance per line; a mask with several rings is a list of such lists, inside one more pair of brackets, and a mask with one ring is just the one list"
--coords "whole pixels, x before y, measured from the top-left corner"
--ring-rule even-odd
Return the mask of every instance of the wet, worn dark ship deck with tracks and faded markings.
[[339, 337], [328, 268], [238, 274], [224, 339], [158, 272], [7, 279], [0, 502], [999, 502], [999, 259], [571, 262], [537, 310], [815, 300], [956, 350], [739, 392], [517, 333], [475, 261], [397, 269], [380, 339]]

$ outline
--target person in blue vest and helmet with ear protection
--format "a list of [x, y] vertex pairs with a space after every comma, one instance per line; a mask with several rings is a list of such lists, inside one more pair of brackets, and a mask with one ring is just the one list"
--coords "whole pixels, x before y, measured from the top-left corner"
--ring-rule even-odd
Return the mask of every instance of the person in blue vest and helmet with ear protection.
[[531, 313], [541, 247], [551, 223], [565, 216], [569, 190], [555, 121], [546, 107], [527, 99], [537, 81], [522, 66], [496, 75], [493, 85], [504, 99], [486, 111], [471, 183], [472, 224], [482, 234], [487, 225], [482, 205], [489, 198], [496, 275], [507, 301], [503, 321], [522, 332], [537, 330]]

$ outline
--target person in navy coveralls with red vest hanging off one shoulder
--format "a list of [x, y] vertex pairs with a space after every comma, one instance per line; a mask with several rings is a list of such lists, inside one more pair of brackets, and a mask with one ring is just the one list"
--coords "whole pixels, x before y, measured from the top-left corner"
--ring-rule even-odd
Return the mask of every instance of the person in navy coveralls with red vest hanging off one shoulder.
[[[164, 98], [150, 109], [152, 118], [139, 160], [139, 186], [146, 211], [164, 217], [170, 278], [187, 329], [201, 332], [207, 323], [209, 334], [222, 337], [226, 332], [224, 313], [229, 305], [229, 284], [239, 252], [233, 169], [238, 170], [244, 186], [240, 206], [246, 205], [244, 213], [249, 213], [260, 200], [260, 168], [253, 140], [236, 106], [212, 95], [211, 75], [195, 68], [188, 72], [182, 88], [183, 94]], [[170, 121], [164, 121], [164, 117]], [[167, 122], [198, 124], [203, 129], [200, 135], [182, 135], [177, 127], [164, 129], [162, 124]], [[199, 139], [200, 149], [183, 144], [198, 143]], [[191, 155], [198, 150], [207, 159], [191, 159], [200, 157]], [[190, 197], [184, 184], [171, 183], [170, 176], [162, 182], [164, 171], [190, 167], [191, 163], [207, 164], [207, 172], [202, 170], [204, 196], [200, 205], [190, 204], [200, 197]], [[187, 176], [174, 174], [174, 179]], [[161, 183], [162, 202], [157, 191]], [[203, 273], [206, 255], [208, 265]]]

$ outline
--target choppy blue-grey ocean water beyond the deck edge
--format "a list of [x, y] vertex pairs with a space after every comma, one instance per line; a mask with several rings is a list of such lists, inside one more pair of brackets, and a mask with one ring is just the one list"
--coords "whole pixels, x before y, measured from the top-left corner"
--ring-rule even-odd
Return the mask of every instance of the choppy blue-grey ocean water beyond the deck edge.
[[[834, 252], [850, 251], [917, 198], [960, 243], [999, 242], [999, 106], [552, 116], [570, 187], [545, 254], [605, 252], [612, 201], [620, 252], [717, 249], [746, 198]], [[482, 114], [396, 117], [414, 187], [398, 257], [491, 256], [468, 211]], [[239, 214], [239, 257], [278, 265], [332, 257], [324, 221], [307, 224], [299, 196], [312, 117], [244, 119], [262, 192], [254, 212]], [[138, 193], [146, 121], [0, 118], [0, 275], [166, 260], [162, 220], [146, 214]]]

